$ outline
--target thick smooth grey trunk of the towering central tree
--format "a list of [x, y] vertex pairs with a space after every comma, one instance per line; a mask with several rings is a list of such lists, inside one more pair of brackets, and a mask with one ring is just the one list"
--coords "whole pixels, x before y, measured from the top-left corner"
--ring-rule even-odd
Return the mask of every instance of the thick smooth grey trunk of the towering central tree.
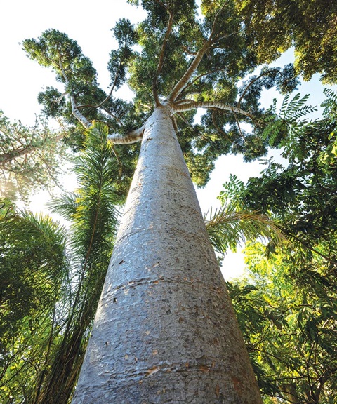
[[172, 112], [145, 123], [73, 404], [262, 403]]

